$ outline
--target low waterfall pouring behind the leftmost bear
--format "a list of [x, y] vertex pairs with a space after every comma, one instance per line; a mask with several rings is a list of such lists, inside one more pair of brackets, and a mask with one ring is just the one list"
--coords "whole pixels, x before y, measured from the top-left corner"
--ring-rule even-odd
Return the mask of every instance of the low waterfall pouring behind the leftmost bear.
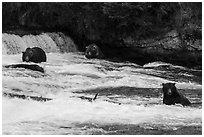
[[28, 47], [40, 47], [46, 53], [76, 52], [77, 46], [72, 39], [63, 33], [42, 33], [39, 35], [2, 34], [2, 54], [20, 54]]

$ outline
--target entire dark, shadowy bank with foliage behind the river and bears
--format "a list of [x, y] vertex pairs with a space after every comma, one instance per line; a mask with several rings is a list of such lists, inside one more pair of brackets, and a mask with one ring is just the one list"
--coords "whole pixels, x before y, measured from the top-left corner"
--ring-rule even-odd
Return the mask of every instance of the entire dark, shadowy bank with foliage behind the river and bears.
[[95, 43], [107, 58], [141, 65], [202, 66], [201, 2], [3, 2], [2, 28], [20, 36], [63, 32], [80, 51]]

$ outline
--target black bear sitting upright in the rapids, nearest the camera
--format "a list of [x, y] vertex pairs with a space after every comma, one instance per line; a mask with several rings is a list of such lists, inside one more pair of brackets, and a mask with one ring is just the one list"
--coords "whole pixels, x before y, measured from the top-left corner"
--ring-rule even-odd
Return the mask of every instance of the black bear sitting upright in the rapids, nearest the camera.
[[162, 83], [163, 103], [166, 105], [175, 105], [178, 103], [183, 106], [190, 106], [191, 102], [177, 90], [175, 84]]

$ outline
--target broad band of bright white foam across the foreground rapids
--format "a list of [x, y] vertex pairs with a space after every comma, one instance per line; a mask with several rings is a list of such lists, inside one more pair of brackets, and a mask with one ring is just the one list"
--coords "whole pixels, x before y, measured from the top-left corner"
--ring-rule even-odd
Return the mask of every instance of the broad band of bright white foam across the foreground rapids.
[[[75, 123], [96, 124], [162, 124], [165, 126], [199, 126], [201, 109], [157, 105], [151, 107], [94, 103], [73, 98], [40, 103], [3, 98], [3, 129], [16, 123], [54, 123], [74, 127]], [[61, 124], [60, 124], [61, 123]], [[25, 125], [26, 126], [26, 125]], [[35, 126], [35, 125], [34, 125]], [[39, 131], [41, 131], [39, 129]]]

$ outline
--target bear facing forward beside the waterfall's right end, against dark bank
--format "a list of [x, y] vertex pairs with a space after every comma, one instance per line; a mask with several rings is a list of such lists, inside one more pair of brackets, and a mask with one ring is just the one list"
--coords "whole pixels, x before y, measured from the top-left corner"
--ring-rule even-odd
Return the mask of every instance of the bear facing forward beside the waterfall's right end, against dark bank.
[[104, 55], [101, 49], [96, 44], [91, 44], [86, 47], [85, 57], [88, 59], [91, 58], [102, 59], [104, 58]]

